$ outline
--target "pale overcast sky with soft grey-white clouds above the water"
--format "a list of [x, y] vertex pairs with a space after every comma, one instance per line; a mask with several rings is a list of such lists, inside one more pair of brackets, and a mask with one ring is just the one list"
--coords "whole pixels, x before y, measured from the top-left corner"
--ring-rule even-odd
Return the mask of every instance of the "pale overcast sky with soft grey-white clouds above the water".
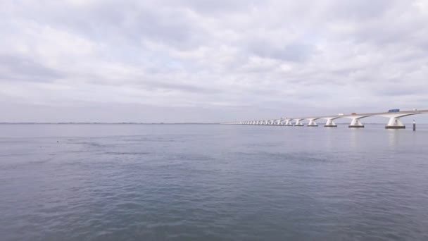
[[0, 122], [428, 109], [424, 0], [4, 0], [0, 36]]

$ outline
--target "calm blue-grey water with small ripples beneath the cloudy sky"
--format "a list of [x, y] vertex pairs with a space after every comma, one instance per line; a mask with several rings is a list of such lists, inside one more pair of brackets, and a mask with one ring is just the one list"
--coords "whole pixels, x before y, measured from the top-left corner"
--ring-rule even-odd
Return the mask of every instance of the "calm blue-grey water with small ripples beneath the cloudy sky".
[[0, 125], [0, 240], [428, 240], [427, 140], [427, 125]]

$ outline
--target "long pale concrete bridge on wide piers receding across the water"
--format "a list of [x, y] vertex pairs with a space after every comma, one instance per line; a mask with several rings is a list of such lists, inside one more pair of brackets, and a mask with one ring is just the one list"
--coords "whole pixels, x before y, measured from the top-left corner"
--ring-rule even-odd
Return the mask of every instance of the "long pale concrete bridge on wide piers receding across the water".
[[[337, 127], [334, 120], [338, 118], [351, 119], [349, 128], [364, 128], [363, 123], [360, 121], [363, 118], [370, 116], [382, 116], [389, 118], [388, 123], [385, 125], [386, 129], [404, 129], [405, 125], [401, 122], [400, 118], [404, 116], [413, 116], [418, 114], [428, 113], [428, 110], [413, 110], [413, 111], [397, 111], [397, 112], [379, 112], [379, 113], [353, 113], [351, 115], [339, 114], [337, 116], [310, 116], [310, 117], [296, 117], [296, 118], [277, 118], [269, 120], [258, 121], [238, 121], [230, 123], [222, 123], [229, 125], [285, 125], [285, 126], [304, 126], [303, 121], [308, 121], [307, 126], [318, 126], [317, 120], [325, 120], [325, 127]], [[294, 123], [293, 123], [294, 122]]]

